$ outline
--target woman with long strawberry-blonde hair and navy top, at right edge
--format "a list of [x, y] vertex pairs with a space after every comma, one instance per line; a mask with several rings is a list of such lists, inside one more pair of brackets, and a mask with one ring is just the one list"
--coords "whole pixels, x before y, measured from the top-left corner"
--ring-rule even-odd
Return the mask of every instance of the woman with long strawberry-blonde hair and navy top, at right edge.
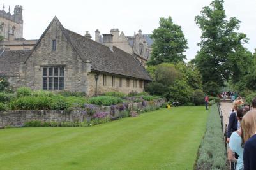
[[243, 162], [244, 170], [256, 169], [256, 111], [246, 113], [242, 120], [242, 143], [244, 146]]

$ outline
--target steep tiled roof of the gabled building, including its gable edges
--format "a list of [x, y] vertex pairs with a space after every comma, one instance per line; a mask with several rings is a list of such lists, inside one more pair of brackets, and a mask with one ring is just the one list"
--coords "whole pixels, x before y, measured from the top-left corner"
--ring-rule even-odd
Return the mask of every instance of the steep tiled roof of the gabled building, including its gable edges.
[[[115, 46], [113, 46], [113, 50], [110, 50], [108, 46], [65, 29], [57, 17], [54, 17], [52, 22], [54, 21], [59, 25], [61, 31], [66, 36], [73, 49], [78, 53], [80, 59], [82, 59], [83, 62], [87, 62], [87, 60], [91, 62], [92, 71], [118, 74], [151, 81], [151, 77], [146, 69], [140, 64], [136, 57], [133, 57], [133, 55], [130, 55]], [[45, 32], [43, 32], [33, 50], [36, 49], [36, 46], [38, 46], [43, 36], [50, 28], [52, 22], [50, 22]], [[28, 55], [27, 59], [31, 56], [31, 53]], [[26, 60], [24, 62], [26, 62]]]

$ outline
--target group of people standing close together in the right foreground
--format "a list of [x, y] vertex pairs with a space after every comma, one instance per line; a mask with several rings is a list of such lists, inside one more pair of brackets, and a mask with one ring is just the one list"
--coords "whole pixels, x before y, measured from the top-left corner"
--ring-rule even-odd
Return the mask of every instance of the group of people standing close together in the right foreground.
[[245, 105], [241, 97], [235, 99], [227, 127], [228, 159], [234, 162], [237, 170], [254, 170], [256, 169], [256, 97], [250, 105]]

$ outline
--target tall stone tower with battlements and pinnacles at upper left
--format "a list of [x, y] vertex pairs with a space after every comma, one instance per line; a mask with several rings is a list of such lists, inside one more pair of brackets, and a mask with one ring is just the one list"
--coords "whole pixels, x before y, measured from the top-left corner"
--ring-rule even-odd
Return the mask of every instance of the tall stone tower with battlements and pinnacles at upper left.
[[23, 39], [22, 10], [20, 5], [15, 6], [13, 14], [11, 14], [10, 6], [8, 12], [5, 11], [5, 6], [3, 10], [0, 10], [0, 36], [3, 36], [3, 40]]

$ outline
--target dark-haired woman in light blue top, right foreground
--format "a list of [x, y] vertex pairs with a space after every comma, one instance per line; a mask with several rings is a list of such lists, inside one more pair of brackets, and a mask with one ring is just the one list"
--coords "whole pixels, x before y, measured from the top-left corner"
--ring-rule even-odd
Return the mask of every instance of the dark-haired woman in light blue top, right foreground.
[[[239, 122], [242, 121], [243, 116], [247, 112], [246, 109], [238, 108], [237, 109], [237, 120]], [[242, 131], [241, 128], [237, 129], [237, 131], [233, 132], [230, 137], [229, 142], [229, 150], [228, 150], [228, 159], [231, 162], [235, 162], [236, 170], [243, 170], [243, 148], [242, 148]], [[238, 155], [238, 159], [234, 157], [235, 153]]]

